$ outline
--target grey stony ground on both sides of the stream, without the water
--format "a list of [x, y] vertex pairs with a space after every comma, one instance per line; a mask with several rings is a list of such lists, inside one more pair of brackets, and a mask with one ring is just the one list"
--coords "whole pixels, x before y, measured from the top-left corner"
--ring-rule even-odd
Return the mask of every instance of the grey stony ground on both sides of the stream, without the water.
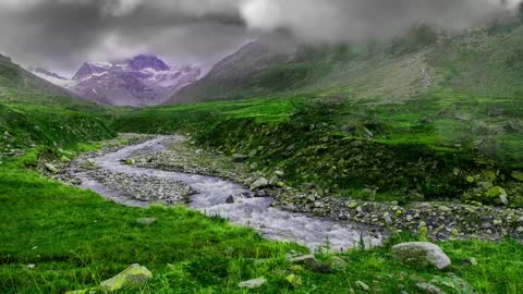
[[[126, 139], [125, 144], [144, 143], [151, 136], [138, 136]], [[197, 148], [188, 139], [179, 136], [163, 138], [162, 147], [136, 149], [131, 157], [122, 159], [129, 172], [115, 172], [100, 168], [90, 158], [117, 151], [121, 144], [112, 144], [96, 154], [88, 154], [74, 161], [66, 169], [68, 175], [60, 175], [62, 181], [71, 181], [78, 171], [87, 171], [89, 177], [97, 180], [110, 191], [123, 193], [124, 197], [146, 201], [172, 204], [188, 204], [208, 206], [208, 199], [199, 203], [191, 196], [200, 191], [192, 180], [180, 175], [178, 180], [167, 179], [166, 174], [134, 173], [132, 166], [144, 171], [165, 170], [183, 172], [184, 174], [204, 174], [228, 179], [243, 186], [236, 192], [223, 188], [223, 196], [215, 205], [222, 209], [223, 205], [240, 204], [250, 198], [265, 199], [273, 197], [270, 206], [293, 213], [330, 219], [335, 222], [361, 223], [369, 228], [381, 228], [385, 231], [408, 231], [434, 241], [482, 238], [500, 241], [507, 236], [523, 238], [523, 210], [484, 205], [469, 205], [459, 201], [424, 201], [401, 206], [398, 203], [363, 201], [351, 198], [323, 197], [309, 186], [289, 187], [282, 182], [282, 172], [264, 174], [257, 167], [244, 163], [246, 156], [234, 155], [232, 158], [212, 150]], [[185, 180], [180, 180], [185, 179]], [[204, 188], [205, 189], [205, 188]], [[228, 194], [229, 193], [229, 194]], [[372, 192], [369, 192], [372, 193]], [[229, 196], [227, 196], [229, 195]], [[222, 210], [211, 210], [220, 213]], [[227, 210], [229, 211], [229, 210]], [[227, 212], [229, 213], [229, 212]], [[275, 220], [276, 221], [276, 220]]]

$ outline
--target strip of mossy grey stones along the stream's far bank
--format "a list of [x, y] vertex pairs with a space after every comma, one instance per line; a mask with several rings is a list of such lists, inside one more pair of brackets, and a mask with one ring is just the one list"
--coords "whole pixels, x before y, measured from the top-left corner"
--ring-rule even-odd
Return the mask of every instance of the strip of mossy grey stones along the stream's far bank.
[[469, 205], [459, 201], [398, 203], [362, 201], [320, 196], [307, 187], [287, 187], [280, 177], [284, 171], [263, 173], [244, 163], [245, 156], [232, 158], [204, 150], [191, 140], [167, 140], [157, 154], [133, 157], [138, 167], [198, 173], [228, 179], [250, 187], [254, 196], [271, 196], [272, 207], [304, 212], [335, 221], [351, 221], [391, 231], [421, 233], [431, 240], [483, 238], [499, 241], [507, 236], [523, 238], [521, 208]]

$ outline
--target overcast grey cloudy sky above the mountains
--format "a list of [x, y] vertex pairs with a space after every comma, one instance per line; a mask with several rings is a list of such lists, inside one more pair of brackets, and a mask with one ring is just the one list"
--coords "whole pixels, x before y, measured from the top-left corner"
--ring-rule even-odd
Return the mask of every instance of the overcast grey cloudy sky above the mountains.
[[[513, 7], [519, 0], [508, 0]], [[155, 53], [211, 64], [287, 27], [304, 42], [401, 34], [424, 21], [466, 28], [501, 0], [0, 0], [0, 53], [72, 74], [83, 61]]]

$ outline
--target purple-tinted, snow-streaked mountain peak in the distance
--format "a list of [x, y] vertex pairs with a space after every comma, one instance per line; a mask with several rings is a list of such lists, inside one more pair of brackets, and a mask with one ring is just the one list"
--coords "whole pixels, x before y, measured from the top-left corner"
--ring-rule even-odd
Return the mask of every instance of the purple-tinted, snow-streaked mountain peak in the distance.
[[52, 74], [42, 77], [97, 103], [150, 106], [165, 102], [200, 75], [199, 66], [170, 66], [155, 56], [139, 54], [117, 62], [85, 62], [72, 79]]

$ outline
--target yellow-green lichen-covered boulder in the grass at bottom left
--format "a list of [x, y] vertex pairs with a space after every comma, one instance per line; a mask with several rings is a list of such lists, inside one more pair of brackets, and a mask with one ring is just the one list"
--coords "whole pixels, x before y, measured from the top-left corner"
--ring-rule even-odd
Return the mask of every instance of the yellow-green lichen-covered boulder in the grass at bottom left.
[[141, 286], [153, 278], [153, 273], [145, 267], [134, 264], [124, 271], [100, 283], [105, 292], [114, 292], [123, 287]]

